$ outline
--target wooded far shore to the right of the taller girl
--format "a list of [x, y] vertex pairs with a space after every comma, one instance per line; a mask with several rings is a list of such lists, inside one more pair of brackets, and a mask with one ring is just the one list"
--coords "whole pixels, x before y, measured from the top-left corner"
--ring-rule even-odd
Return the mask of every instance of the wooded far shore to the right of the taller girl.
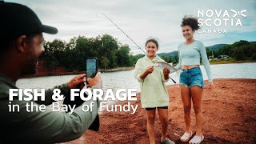
[[221, 58], [221, 55], [228, 55], [236, 60], [251, 59], [256, 60], [256, 45], [244, 40], [226, 45], [218, 50], [206, 49], [208, 57]]

